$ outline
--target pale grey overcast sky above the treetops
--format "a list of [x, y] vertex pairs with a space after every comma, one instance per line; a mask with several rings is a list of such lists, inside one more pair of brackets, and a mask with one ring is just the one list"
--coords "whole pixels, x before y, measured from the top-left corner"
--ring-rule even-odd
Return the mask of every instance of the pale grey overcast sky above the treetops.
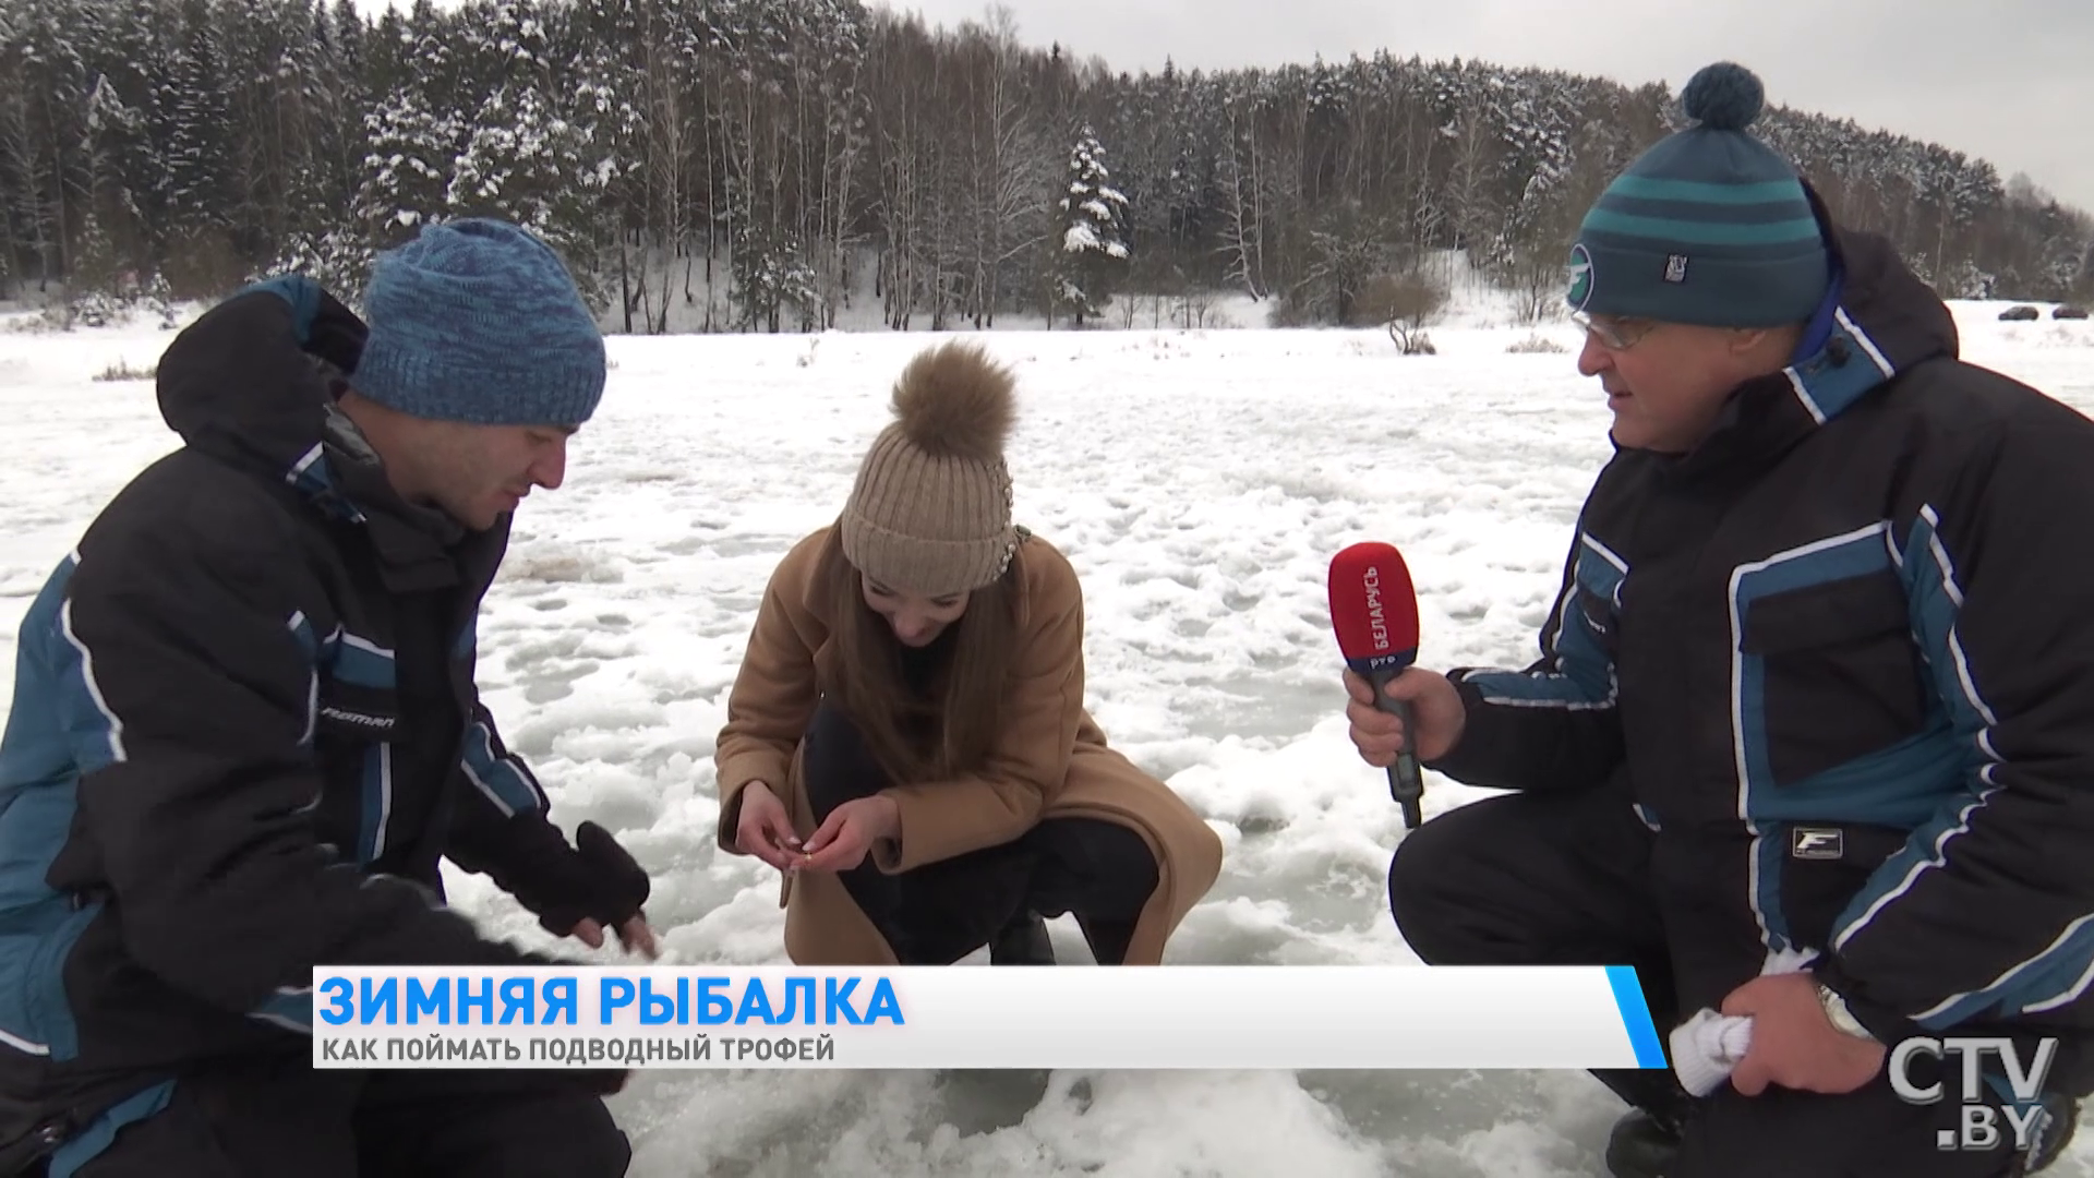
[[[385, 2], [360, 0], [366, 10]], [[934, 25], [986, 10], [986, 0], [869, 2]], [[1769, 103], [1991, 159], [2002, 180], [2027, 172], [2094, 212], [2094, 0], [1005, 2], [1020, 40], [1062, 42], [1127, 71], [1166, 57], [1221, 69], [1386, 48], [1677, 90], [1694, 69], [1732, 59], [1761, 75]]]

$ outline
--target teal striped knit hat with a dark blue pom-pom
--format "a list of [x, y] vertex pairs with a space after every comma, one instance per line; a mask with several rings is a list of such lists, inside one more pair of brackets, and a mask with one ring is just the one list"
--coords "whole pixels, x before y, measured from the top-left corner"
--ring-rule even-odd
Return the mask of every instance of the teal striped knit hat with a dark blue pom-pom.
[[1600, 193], [1570, 249], [1573, 310], [1778, 327], [1818, 310], [1830, 281], [1824, 235], [1797, 170], [1744, 128], [1765, 90], [1748, 69], [1696, 73], [1671, 134]]

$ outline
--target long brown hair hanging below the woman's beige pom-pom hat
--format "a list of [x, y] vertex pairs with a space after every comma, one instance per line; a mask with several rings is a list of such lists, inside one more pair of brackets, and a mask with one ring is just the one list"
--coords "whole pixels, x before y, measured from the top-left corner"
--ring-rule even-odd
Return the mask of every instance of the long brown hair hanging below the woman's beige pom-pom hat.
[[836, 604], [838, 658], [823, 690], [865, 736], [894, 784], [936, 782], [980, 769], [1003, 721], [1005, 677], [1018, 639], [1018, 562], [967, 597], [953, 623], [953, 656], [928, 696], [903, 679], [894, 627], [865, 604], [861, 572], [844, 560], [842, 530], [821, 549], [817, 576]]

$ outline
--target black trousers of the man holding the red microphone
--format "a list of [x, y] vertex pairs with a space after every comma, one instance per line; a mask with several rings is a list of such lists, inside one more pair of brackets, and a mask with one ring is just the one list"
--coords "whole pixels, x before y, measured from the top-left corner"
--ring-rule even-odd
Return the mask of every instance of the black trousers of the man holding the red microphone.
[[[1426, 964], [1629, 964], [1658, 1035], [1679, 1021], [1675, 958], [1650, 885], [1650, 830], [1621, 788], [1503, 794], [1409, 832], [1388, 870], [1388, 906]], [[1889, 1069], [1885, 1069], [1889, 1071]], [[2010, 1144], [1943, 1153], [1958, 1105], [1912, 1107], [1887, 1075], [1843, 1096], [1728, 1084], [1692, 1098], [1667, 1071], [1596, 1071], [1631, 1105], [1686, 1121], [1667, 1178], [1996, 1178]], [[2002, 1119], [2004, 1128], [2006, 1121]]]

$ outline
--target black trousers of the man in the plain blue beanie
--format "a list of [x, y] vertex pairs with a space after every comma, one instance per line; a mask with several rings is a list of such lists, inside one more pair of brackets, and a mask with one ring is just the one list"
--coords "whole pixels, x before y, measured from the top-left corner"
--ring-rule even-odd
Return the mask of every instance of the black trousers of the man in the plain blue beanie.
[[176, 1082], [77, 1178], [620, 1178], [632, 1151], [578, 1075], [316, 1071], [258, 1056]]

